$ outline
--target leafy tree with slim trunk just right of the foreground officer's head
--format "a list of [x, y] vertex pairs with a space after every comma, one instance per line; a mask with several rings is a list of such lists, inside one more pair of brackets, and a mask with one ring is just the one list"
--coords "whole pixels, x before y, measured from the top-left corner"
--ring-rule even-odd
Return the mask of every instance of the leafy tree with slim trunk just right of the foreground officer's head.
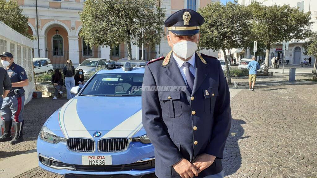
[[208, 3], [198, 12], [204, 17], [205, 23], [200, 27], [200, 48], [221, 49], [226, 64], [228, 84], [231, 84], [226, 50], [242, 48], [250, 42], [250, 14], [247, 8], [237, 1], [223, 5], [220, 2]]

